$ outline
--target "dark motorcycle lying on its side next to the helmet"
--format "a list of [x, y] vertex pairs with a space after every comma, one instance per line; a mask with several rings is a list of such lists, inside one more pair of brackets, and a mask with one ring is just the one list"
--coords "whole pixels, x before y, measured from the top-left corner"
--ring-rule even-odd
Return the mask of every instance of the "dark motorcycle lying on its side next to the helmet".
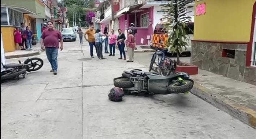
[[130, 72], [124, 71], [122, 77], [114, 78], [114, 86], [122, 88], [125, 94], [188, 93], [193, 88], [193, 85], [194, 81], [189, 79], [189, 74], [185, 72], [161, 76], [158, 73], [134, 69]]

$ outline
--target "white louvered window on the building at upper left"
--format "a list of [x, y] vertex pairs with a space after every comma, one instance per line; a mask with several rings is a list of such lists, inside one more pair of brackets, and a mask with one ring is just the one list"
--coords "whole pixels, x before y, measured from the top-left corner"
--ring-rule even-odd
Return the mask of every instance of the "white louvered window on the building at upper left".
[[23, 13], [1, 7], [1, 26], [21, 26], [21, 23], [23, 23]]

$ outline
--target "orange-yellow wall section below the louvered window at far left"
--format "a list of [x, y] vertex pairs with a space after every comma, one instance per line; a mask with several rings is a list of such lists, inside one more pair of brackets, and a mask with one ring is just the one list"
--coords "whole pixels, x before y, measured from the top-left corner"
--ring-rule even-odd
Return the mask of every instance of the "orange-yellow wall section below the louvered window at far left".
[[3, 34], [4, 52], [15, 51], [13, 35], [14, 30], [14, 27], [1, 27], [1, 32]]

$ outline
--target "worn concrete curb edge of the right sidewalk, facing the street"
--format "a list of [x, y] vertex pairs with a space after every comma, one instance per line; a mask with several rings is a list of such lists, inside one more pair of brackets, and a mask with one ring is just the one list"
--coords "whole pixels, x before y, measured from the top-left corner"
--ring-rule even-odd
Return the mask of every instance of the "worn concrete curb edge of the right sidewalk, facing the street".
[[256, 129], [256, 111], [253, 109], [229, 100], [218, 93], [214, 93], [212, 90], [207, 89], [200, 84], [194, 83], [190, 92]]

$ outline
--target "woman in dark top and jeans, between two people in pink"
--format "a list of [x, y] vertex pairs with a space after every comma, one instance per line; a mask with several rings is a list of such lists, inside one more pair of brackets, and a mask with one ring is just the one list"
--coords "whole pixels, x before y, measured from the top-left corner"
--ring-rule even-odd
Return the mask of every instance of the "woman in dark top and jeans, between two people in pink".
[[[120, 58], [118, 58], [118, 59], [123, 59], [124, 58], [124, 60], [126, 60], [126, 57], [125, 57], [125, 42], [124, 42], [125, 39], [126, 39], [125, 34], [123, 34], [122, 30], [119, 29], [118, 30], [117, 41], [116, 41], [116, 43], [118, 45], [118, 49], [120, 51]], [[123, 55], [123, 57], [122, 57], [122, 55]]]

